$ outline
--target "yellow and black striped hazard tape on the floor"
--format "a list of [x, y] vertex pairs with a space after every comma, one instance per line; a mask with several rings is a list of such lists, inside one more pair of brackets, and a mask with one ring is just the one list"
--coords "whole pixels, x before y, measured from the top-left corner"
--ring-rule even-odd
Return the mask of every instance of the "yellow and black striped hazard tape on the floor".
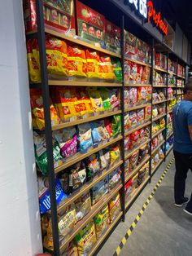
[[159, 188], [160, 184], [162, 183], [162, 181], [164, 180], [164, 176], [167, 174], [168, 170], [170, 169], [170, 167], [172, 166], [172, 162], [174, 161], [174, 157], [172, 158], [172, 160], [168, 163], [168, 166], [166, 167], [166, 169], [164, 170], [164, 173], [161, 175], [158, 183], [156, 183], [155, 188], [152, 190], [151, 195], [146, 199], [146, 202], [144, 203], [144, 205], [142, 206], [142, 209], [140, 210], [140, 212], [137, 214], [137, 217], [135, 218], [135, 220], [133, 221], [133, 223], [131, 224], [131, 226], [129, 227], [129, 230], [126, 232], [124, 238], [122, 239], [122, 241], [120, 242], [120, 245], [117, 247], [115, 254], [113, 254], [113, 256], [118, 256], [120, 255], [120, 251], [123, 249], [124, 245], [126, 244], [126, 242], [128, 241], [129, 236], [131, 236], [134, 228], [137, 226], [138, 221], [140, 220], [140, 218], [142, 218], [142, 214], [144, 214], [144, 211], [146, 210], [147, 205], [149, 205], [151, 199], [153, 198], [153, 196], [155, 195], [155, 192], [157, 191], [157, 189]]

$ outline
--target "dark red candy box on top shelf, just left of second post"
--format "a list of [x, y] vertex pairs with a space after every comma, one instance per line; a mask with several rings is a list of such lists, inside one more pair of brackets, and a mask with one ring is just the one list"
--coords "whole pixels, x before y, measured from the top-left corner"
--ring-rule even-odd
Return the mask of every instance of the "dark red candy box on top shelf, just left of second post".
[[120, 52], [120, 28], [105, 20], [105, 43], [108, 50]]

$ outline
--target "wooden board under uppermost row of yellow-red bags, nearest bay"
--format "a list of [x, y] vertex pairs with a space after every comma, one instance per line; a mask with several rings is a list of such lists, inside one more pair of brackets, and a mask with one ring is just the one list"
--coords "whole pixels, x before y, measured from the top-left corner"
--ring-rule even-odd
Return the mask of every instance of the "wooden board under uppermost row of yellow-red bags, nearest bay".
[[49, 80], [49, 86], [91, 86], [91, 87], [122, 87], [118, 82], [92, 82], [80, 80]]

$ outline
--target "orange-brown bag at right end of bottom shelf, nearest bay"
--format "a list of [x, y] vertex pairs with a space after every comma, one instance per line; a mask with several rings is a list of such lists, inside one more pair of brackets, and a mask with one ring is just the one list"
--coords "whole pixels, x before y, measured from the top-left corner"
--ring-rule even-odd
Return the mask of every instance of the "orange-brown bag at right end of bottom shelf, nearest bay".
[[120, 193], [118, 192], [109, 201], [109, 215], [111, 222], [115, 220], [116, 216], [120, 213], [120, 210]]

